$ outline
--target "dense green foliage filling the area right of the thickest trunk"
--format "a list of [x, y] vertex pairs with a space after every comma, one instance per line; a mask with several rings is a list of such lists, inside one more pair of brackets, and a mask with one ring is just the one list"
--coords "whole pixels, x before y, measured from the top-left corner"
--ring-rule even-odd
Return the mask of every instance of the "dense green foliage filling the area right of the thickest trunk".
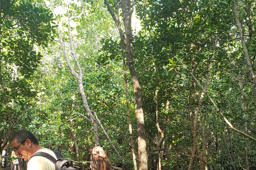
[[[206, 75], [210, 74], [210, 86], [207, 91], [234, 126], [244, 129], [244, 125], [247, 123], [254, 127], [254, 122], [250, 121], [254, 118], [247, 118], [247, 115], [251, 114], [244, 113], [242, 108], [244, 102], [248, 106], [246, 108], [250, 110], [247, 112], [254, 113], [255, 105], [250, 101], [253, 90], [251, 80], [247, 80], [247, 78], [250, 79], [249, 74], [244, 72], [243, 49], [235, 41], [237, 39], [236, 24], [233, 11], [231, 11], [231, 1], [174, 0], [137, 1], [135, 3], [137, 4], [137, 14], [143, 25], [142, 30], [134, 37], [133, 46], [136, 57], [135, 65], [139, 70], [142, 87], [144, 87], [143, 108], [147, 114], [146, 124], [150, 125], [146, 128], [147, 133], [149, 137], [155, 137], [154, 141], [159, 134], [156, 127], [152, 126], [155, 124], [156, 110], [154, 91], [159, 90], [159, 124], [162, 130], [166, 131], [166, 146], [170, 146], [170, 152], [175, 153], [171, 156], [167, 155], [167, 159], [163, 159], [162, 165], [170, 169], [174, 167], [186, 169], [189, 164], [189, 161], [185, 162], [186, 155], [191, 154], [191, 146], [193, 146], [189, 120], [189, 97], [193, 90], [200, 97], [202, 89], [198, 84], [195, 87], [191, 86], [193, 78], [185, 66], [190, 72], [194, 72], [202, 85], [207, 79]], [[250, 12], [253, 8], [250, 6], [252, 1], [243, 3], [246, 10], [239, 8], [239, 15], [243, 19], [247, 16], [248, 21], [244, 20], [246, 25], [244, 33], [246, 34], [252, 28], [252, 25], [248, 23], [254, 22], [254, 17], [248, 18], [249, 15], [251, 16]], [[151, 39], [149, 39], [149, 29]], [[254, 46], [250, 38], [246, 39], [246, 43], [248, 47]], [[215, 49], [213, 48], [214, 44], [217, 46]], [[251, 50], [249, 48], [251, 52], [252, 49], [254, 48]], [[214, 59], [211, 60], [213, 55]], [[192, 70], [192, 60], [195, 61], [195, 70]], [[212, 67], [210, 67], [211, 62], [213, 62]], [[241, 76], [245, 76], [242, 79], [245, 99], [241, 98], [242, 91], [238, 86]], [[193, 101], [195, 108], [198, 97]], [[170, 109], [168, 113], [165, 113], [167, 100], [170, 100]], [[223, 139], [217, 140], [216, 138], [219, 133], [227, 129], [227, 125], [223, 122], [222, 117], [215, 113], [215, 108], [207, 96], [202, 105], [203, 117], [199, 115], [197, 125], [199, 145], [202, 146], [202, 128], [204, 126], [212, 132], [212, 135], [206, 133], [206, 143], [211, 148], [207, 150], [207, 156], [217, 155], [218, 150], [226, 150], [223, 145], [223, 148], [218, 148]], [[199, 123], [201, 120], [203, 120], [203, 124]], [[235, 132], [229, 136], [231, 135], [234, 140], [239, 140], [239, 135]], [[217, 141], [217, 143], [212, 141]], [[149, 140], [148, 143], [150, 142]], [[236, 143], [236, 141], [229, 142], [230, 147], [232, 143]], [[252, 145], [251, 141], [250, 145]], [[245, 146], [245, 143], [241, 143], [241, 146]], [[243, 149], [240, 148], [241, 150]], [[237, 151], [234, 152], [237, 153]], [[238, 155], [242, 156], [242, 154]], [[216, 159], [215, 163], [209, 163], [214, 169], [228, 169], [231, 165], [239, 166], [238, 162], [230, 163], [229, 157], [225, 154], [218, 157], [219, 159]], [[245, 160], [243, 162], [245, 163]], [[196, 167], [198, 164], [196, 165], [196, 162], [194, 164], [194, 168], [199, 169]], [[245, 167], [245, 165], [242, 166]]]

